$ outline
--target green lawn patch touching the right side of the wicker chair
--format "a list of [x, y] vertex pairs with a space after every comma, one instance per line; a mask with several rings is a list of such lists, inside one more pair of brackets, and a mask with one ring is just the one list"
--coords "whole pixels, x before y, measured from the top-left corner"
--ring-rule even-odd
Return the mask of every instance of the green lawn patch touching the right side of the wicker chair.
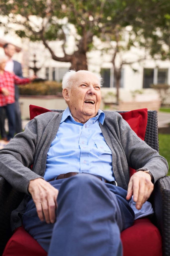
[[[159, 133], [159, 153], [166, 158], [170, 168], [170, 134]], [[167, 175], [170, 175], [170, 170]]]

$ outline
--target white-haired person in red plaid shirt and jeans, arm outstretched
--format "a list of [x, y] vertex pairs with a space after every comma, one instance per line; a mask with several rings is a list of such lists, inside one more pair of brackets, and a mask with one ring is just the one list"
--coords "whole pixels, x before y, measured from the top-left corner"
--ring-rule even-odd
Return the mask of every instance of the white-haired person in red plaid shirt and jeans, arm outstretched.
[[31, 78], [19, 78], [14, 73], [5, 71], [7, 62], [6, 56], [0, 56], [0, 115], [2, 107], [5, 107], [8, 118], [8, 140], [14, 137], [15, 133], [15, 84], [30, 83]]

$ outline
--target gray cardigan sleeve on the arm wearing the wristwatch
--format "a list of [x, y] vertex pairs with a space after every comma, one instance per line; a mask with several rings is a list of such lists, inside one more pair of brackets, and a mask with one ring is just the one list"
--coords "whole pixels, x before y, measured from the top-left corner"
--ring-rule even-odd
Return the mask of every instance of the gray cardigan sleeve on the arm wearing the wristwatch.
[[150, 170], [154, 183], [159, 178], [164, 177], [168, 171], [166, 159], [142, 141], [121, 115], [118, 115], [117, 120], [120, 140], [128, 165], [134, 169], [147, 168]]

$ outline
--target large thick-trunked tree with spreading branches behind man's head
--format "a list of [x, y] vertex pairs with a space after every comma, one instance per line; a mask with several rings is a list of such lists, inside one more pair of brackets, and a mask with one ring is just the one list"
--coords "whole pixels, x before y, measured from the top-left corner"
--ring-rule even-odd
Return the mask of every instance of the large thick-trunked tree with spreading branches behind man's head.
[[[61, 1], [61, 0], [12, 0], [2, 1], [1, 15], [7, 17], [7, 29], [13, 24], [20, 37], [30, 40], [42, 40], [49, 49], [54, 60], [71, 62], [75, 70], [87, 69], [86, 52], [90, 50], [93, 36], [98, 33], [98, 23], [104, 12], [104, 1]], [[70, 24], [74, 26], [75, 47], [71, 54], [67, 53], [67, 36], [72, 33]], [[63, 57], [55, 55], [49, 41], [62, 40]]]

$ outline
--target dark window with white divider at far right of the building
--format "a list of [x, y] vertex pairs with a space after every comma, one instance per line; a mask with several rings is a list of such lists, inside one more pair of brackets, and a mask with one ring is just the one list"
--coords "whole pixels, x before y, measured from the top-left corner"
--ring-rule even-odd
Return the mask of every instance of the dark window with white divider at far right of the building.
[[150, 88], [151, 84], [167, 83], [168, 69], [144, 68], [143, 88]]

